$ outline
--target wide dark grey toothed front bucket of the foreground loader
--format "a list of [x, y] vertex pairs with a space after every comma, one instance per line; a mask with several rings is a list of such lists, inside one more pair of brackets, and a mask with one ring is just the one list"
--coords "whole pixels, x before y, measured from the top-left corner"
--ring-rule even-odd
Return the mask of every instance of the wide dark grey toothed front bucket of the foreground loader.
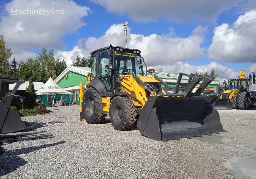
[[140, 133], [158, 141], [210, 135], [223, 130], [213, 107], [217, 96], [149, 97], [140, 112]]

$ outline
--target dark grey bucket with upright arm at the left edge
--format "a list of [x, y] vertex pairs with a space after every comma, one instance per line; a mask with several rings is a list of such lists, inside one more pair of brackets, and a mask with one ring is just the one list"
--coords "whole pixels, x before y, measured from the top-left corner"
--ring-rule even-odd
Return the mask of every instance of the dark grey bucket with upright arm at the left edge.
[[20, 85], [24, 83], [24, 80], [1, 79], [0, 89], [2, 82], [16, 83], [16, 85], [12, 92], [8, 92], [0, 102], [0, 133], [12, 133], [27, 129], [18, 112], [10, 108], [12, 99]]

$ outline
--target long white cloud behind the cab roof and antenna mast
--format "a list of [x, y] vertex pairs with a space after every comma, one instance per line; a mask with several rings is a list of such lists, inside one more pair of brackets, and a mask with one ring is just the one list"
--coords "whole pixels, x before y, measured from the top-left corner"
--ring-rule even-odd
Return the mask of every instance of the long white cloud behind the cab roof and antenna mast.
[[[141, 55], [145, 58], [148, 65], [168, 65], [173, 62], [197, 59], [204, 54], [204, 48], [201, 43], [204, 41], [204, 34], [207, 32], [206, 27], [198, 26], [187, 38], [173, 36], [175, 33], [170, 29], [169, 34], [131, 34], [128, 29], [127, 46], [141, 50]], [[59, 57], [66, 59], [68, 64], [73, 61], [77, 53], [83, 56], [89, 56], [90, 52], [109, 46], [124, 45], [124, 35], [122, 24], [113, 24], [99, 38], [89, 37], [79, 40], [79, 48], [75, 47], [69, 52], [58, 52]]]

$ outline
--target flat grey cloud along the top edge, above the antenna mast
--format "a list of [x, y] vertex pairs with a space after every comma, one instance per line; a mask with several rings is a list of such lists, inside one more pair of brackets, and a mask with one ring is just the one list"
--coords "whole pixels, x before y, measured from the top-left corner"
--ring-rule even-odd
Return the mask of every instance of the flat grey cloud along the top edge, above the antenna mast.
[[105, 7], [108, 12], [127, 13], [135, 21], [215, 21], [219, 13], [231, 9], [244, 0], [91, 0]]

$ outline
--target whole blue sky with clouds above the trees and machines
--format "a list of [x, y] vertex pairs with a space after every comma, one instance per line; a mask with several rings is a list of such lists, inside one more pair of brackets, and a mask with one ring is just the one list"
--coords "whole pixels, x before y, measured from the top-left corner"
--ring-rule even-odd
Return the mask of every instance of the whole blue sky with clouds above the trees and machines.
[[[63, 13], [48, 13], [51, 9]], [[123, 21], [129, 21], [128, 47], [140, 49], [157, 71], [214, 68], [220, 80], [256, 71], [255, 0], [0, 1], [0, 34], [18, 61], [36, 56], [43, 46], [54, 48], [68, 65], [78, 53], [88, 57], [109, 44], [125, 46]]]

